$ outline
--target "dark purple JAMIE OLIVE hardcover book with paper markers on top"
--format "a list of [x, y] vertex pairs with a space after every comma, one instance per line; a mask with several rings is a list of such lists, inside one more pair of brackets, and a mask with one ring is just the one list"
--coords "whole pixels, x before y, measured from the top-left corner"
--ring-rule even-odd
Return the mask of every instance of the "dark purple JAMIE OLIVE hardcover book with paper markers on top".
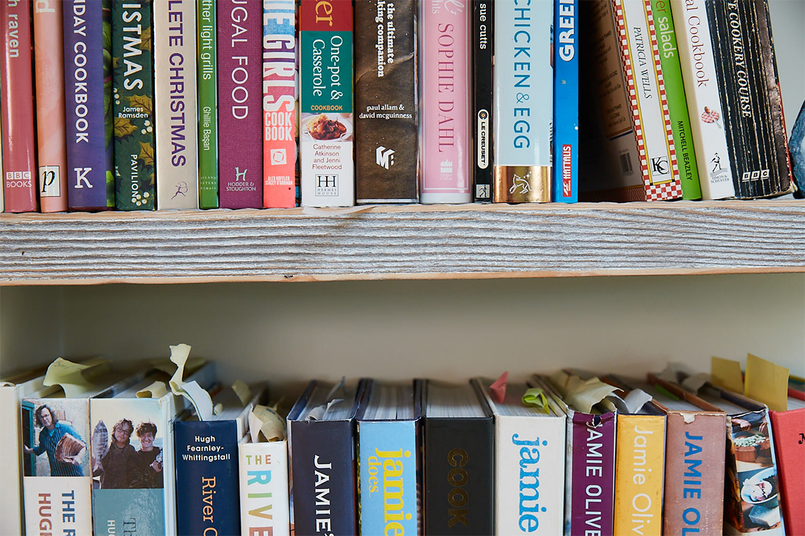
[[535, 376], [531, 382], [568, 415], [564, 534], [613, 534], [617, 413], [601, 400], [615, 388], [564, 372]]

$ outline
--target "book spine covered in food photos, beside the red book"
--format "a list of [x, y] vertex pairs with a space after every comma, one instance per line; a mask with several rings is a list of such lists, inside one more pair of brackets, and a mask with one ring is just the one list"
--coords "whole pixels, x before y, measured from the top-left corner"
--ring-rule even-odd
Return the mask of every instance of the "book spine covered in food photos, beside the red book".
[[[724, 524], [741, 533], [763, 530], [783, 532], [780, 503], [764, 501], [771, 493], [779, 497], [779, 472], [774, 460], [774, 439], [766, 408], [728, 416], [725, 457]], [[752, 440], [745, 444], [745, 439]], [[765, 482], [766, 488], [759, 488]], [[757, 493], [758, 495], [755, 495]], [[758, 508], [758, 502], [763, 504]], [[775, 531], [776, 530], [776, 531]]]

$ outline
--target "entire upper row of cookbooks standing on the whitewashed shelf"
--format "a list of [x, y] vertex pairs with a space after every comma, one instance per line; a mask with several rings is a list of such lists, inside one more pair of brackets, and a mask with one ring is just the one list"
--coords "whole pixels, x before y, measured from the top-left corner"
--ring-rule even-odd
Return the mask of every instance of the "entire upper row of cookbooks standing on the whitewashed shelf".
[[795, 190], [767, 0], [15, 0], [0, 19], [6, 211]]

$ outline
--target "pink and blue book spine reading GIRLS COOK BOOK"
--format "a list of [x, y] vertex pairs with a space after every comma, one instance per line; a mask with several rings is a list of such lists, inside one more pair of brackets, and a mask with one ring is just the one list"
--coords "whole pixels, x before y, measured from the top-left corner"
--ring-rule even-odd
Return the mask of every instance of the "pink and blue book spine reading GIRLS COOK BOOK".
[[262, 206], [296, 205], [296, 16], [294, 0], [262, 8]]

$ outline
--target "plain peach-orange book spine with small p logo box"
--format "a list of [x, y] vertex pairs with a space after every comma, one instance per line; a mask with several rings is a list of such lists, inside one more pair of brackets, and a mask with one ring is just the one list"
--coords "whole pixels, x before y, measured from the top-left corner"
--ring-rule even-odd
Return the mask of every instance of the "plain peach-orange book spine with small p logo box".
[[67, 211], [62, 7], [61, 0], [34, 3], [37, 163], [43, 212]]

